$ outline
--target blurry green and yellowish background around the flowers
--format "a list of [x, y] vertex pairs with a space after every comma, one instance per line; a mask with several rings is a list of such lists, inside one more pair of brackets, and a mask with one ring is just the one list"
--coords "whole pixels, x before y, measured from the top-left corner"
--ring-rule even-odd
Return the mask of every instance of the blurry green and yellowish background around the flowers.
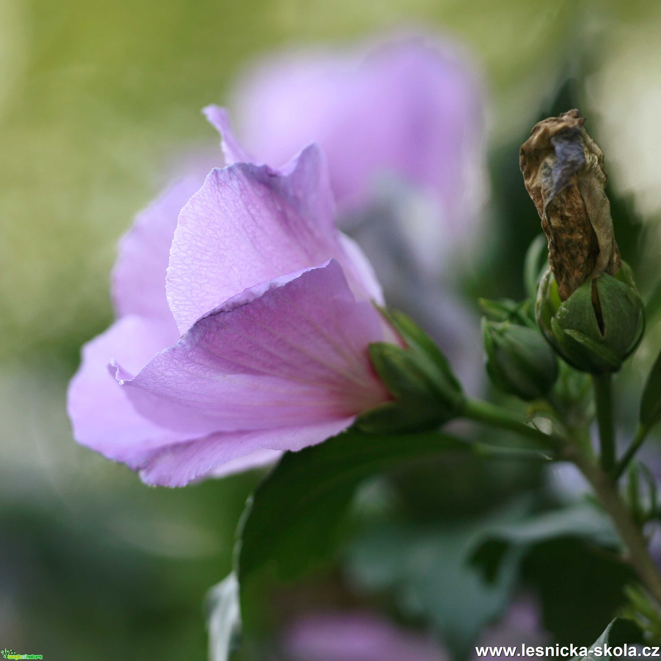
[[[216, 148], [200, 108], [231, 102], [241, 71], [279, 48], [416, 25], [467, 46], [488, 98], [492, 202], [463, 277], [469, 303], [522, 295], [539, 220], [518, 147], [538, 118], [576, 104], [606, 154], [623, 256], [651, 286], [658, 259], [646, 261], [639, 235], [656, 237], [661, 209], [658, 3], [0, 0], [0, 646], [49, 659], [204, 658], [204, 593], [229, 570], [259, 476], [141, 485], [75, 446], [67, 379], [111, 320], [116, 239], [182, 155]], [[639, 376], [634, 366], [634, 391]], [[530, 486], [506, 482], [481, 475], [434, 497], [479, 512], [493, 492]]]

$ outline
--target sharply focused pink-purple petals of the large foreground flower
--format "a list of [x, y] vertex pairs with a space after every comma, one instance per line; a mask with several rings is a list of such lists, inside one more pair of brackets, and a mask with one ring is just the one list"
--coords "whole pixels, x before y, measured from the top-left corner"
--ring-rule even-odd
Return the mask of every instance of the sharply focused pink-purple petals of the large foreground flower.
[[[207, 112], [226, 161], [244, 161], [224, 112]], [[319, 147], [197, 186], [173, 186], [122, 240], [118, 320], [83, 348], [69, 388], [76, 440], [158, 485], [272, 461], [390, 397], [368, 357], [393, 339], [371, 303], [383, 296], [334, 227]]]

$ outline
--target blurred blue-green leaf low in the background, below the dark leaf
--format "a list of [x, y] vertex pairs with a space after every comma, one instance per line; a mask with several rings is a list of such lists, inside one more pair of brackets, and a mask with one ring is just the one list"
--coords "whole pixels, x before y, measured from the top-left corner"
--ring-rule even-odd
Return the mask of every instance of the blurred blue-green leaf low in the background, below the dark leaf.
[[364, 590], [394, 594], [405, 614], [436, 630], [453, 658], [466, 658], [508, 603], [521, 555], [512, 549], [496, 580], [487, 580], [468, 563], [475, 539], [494, 516], [516, 519], [527, 507], [518, 503], [463, 524], [373, 525], [348, 546], [347, 570]]

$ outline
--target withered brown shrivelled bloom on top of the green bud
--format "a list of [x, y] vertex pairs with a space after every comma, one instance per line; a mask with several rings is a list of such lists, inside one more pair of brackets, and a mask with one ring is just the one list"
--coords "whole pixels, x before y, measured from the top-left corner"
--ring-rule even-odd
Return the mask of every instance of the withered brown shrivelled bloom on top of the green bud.
[[621, 264], [603, 152], [583, 122], [578, 110], [569, 110], [535, 124], [519, 158], [549, 239], [549, 263], [563, 301], [586, 278], [614, 275]]

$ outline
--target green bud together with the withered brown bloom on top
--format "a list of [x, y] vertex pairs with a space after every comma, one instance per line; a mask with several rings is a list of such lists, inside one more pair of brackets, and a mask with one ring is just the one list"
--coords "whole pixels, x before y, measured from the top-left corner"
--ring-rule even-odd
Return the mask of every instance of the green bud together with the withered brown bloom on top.
[[568, 364], [601, 374], [635, 350], [645, 317], [615, 241], [603, 152], [583, 124], [578, 110], [535, 124], [520, 166], [549, 239], [537, 324]]

